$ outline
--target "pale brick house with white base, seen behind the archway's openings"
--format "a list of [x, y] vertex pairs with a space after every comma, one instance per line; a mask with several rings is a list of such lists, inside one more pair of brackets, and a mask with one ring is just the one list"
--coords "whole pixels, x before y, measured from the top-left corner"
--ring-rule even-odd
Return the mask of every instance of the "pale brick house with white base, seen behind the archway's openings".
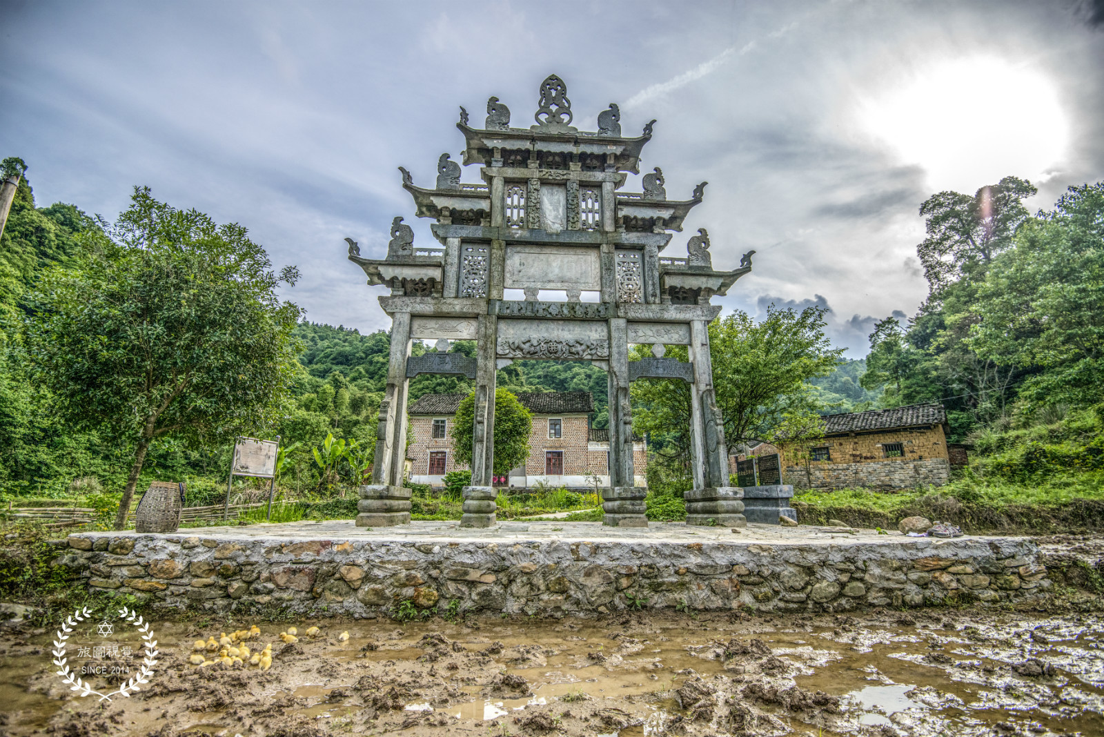
[[[444, 476], [467, 470], [453, 451], [453, 421], [465, 394], [427, 394], [407, 409], [414, 441], [406, 450], [410, 479], [414, 483], [440, 485]], [[533, 415], [529, 458], [511, 469], [510, 487], [538, 482], [567, 488], [609, 484], [609, 432], [590, 427], [594, 397], [590, 392], [522, 392], [518, 400]], [[646, 485], [647, 448], [633, 444], [636, 485]], [[595, 484], [594, 477], [598, 478]]]

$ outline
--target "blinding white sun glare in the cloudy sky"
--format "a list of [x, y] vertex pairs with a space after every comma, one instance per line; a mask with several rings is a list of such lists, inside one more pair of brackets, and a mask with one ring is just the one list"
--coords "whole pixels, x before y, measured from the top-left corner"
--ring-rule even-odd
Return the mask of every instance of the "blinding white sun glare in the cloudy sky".
[[860, 110], [863, 127], [922, 167], [936, 190], [972, 193], [1007, 174], [1043, 180], [1069, 142], [1054, 84], [999, 58], [923, 68]]

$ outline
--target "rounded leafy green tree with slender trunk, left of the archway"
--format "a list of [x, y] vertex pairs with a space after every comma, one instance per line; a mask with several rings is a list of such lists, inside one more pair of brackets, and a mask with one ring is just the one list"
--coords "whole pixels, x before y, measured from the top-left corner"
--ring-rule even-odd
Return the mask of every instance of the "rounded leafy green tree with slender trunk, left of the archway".
[[272, 425], [294, 380], [299, 308], [277, 298], [244, 227], [148, 188], [82, 245], [28, 298], [30, 355], [71, 421], [134, 448], [123, 528], [156, 439], [229, 440]]

